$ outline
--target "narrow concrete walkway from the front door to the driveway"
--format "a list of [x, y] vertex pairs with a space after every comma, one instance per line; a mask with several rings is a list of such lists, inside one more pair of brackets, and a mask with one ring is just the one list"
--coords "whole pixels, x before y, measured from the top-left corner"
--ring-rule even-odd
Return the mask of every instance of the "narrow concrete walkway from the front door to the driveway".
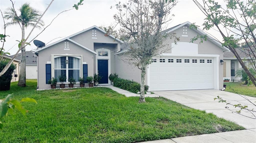
[[[126, 97], [131, 97], [131, 96], [140, 96], [140, 94], [135, 94], [135, 93], [132, 93], [130, 91], [127, 91], [127, 90], [123, 90], [123, 89], [120, 89], [118, 87], [114, 87], [113, 85], [101, 85], [102, 87], [107, 87], [107, 88], [110, 88], [118, 93], [121, 93], [121, 94], [124, 94]], [[159, 95], [156, 95], [156, 94], [145, 94], [145, 97], [159, 97]]]

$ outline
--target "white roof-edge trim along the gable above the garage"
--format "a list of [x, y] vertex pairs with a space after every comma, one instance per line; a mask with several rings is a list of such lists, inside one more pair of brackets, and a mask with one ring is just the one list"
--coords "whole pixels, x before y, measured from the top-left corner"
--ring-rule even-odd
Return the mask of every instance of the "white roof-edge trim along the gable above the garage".
[[[166, 32], [166, 33], [170, 33], [170, 32], [172, 32], [172, 31], [174, 31], [174, 30], [176, 30], [176, 29], [178, 29], [178, 28], [180, 28], [180, 27], [182, 27], [182, 26], [184, 26], [184, 25], [187, 25], [187, 24], [188, 24], [188, 25], [191, 25], [191, 23], [190, 23], [189, 21], [187, 21], [187, 22], [184, 22], [184, 23], [182, 23], [182, 24], [176, 25], [176, 26], [174, 26], [174, 27], [172, 27], [172, 28], [169, 28], [169, 29], [165, 30], [165, 32]], [[210, 35], [208, 35], [208, 34], [205, 33], [204, 31], [202, 31], [200, 28], [197, 28], [197, 30], [196, 30], [196, 29], [193, 29], [193, 30], [196, 31], [196, 32], [198, 32], [198, 33], [201, 34], [201, 35], [207, 35], [207, 36], [209, 37], [209, 38], [207, 38], [207, 39], [208, 39], [209, 41], [213, 42], [213, 43], [214, 43], [215, 45], [217, 45], [218, 47], [222, 48], [223, 51], [229, 51], [229, 49], [226, 48], [226, 47], [223, 47], [220, 42], [218, 42], [218, 41], [216, 41], [216, 40], [212, 40], [212, 39], [215, 39], [215, 38], [211, 37]]]

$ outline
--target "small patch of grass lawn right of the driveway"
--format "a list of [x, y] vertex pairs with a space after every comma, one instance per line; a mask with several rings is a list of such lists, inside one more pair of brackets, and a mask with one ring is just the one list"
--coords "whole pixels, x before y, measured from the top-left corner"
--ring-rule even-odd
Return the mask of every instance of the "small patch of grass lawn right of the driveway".
[[256, 87], [254, 85], [244, 86], [241, 85], [242, 82], [224, 82], [224, 84], [227, 84], [225, 91], [256, 97]]

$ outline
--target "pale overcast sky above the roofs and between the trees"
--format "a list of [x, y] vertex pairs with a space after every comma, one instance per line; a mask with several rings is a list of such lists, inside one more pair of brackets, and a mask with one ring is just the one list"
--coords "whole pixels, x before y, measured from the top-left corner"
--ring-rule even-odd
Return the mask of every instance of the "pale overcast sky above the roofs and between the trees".
[[[47, 7], [47, 4], [50, 3], [50, 1], [44, 0], [34, 0], [34, 1], [22, 1], [22, 0], [16, 0], [15, 1], [15, 8], [19, 8], [23, 3], [28, 2], [30, 3], [30, 6], [37, 8], [40, 11], [44, 11]], [[72, 8], [72, 6], [76, 3], [78, 3], [79, 0], [76, 1], [70, 1], [70, 0], [55, 0], [42, 20], [45, 22], [45, 25], [48, 25], [50, 21], [61, 11], [67, 10]], [[43, 41], [45, 43], [48, 43], [54, 38], [57, 37], [66, 37], [69, 35], [72, 35], [76, 32], [79, 32], [83, 29], [86, 29], [88, 27], [91, 27], [93, 25], [96, 26], [108, 26], [111, 24], [114, 24], [115, 21], [113, 19], [113, 15], [116, 13], [115, 8], [110, 9], [110, 6], [114, 6], [116, 2], [119, 1], [110, 1], [110, 0], [91, 0], [87, 1], [85, 0], [82, 6], [79, 7], [79, 10], [71, 10], [65, 13], [62, 13], [59, 15], [54, 22], [42, 33], [40, 34], [36, 39]], [[125, 1], [121, 1], [125, 2]], [[220, 3], [223, 3], [223, 1], [219, 1]], [[9, 0], [0, 0], [0, 9], [2, 11], [5, 11], [7, 7], [10, 7], [11, 2]], [[180, 23], [189, 21], [191, 23], [196, 23], [197, 25], [202, 25], [204, 22], [205, 16], [202, 14], [202, 12], [196, 7], [194, 2], [192, 0], [180, 0], [177, 6], [172, 10], [172, 13], [175, 15], [173, 17], [173, 20], [167, 25], [167, 28], [173, 27], [175, 25], [178, 25]], [[1, 34], [3, 33], [3, 19], [0, 19], [0, 27], [1, 27]], [[30, 28], [26, 29], [26, 36], [28, 35], [28, 32], [30, 31]], [[40, 30], [36, 29], [30, 36], [30, 40], [35, 37]], [[207, 31], [208, 33], [216, 36], [218, 39], [221, 39], [218, 32], [215, 30]], [[17, 41], [21, 39], [21, 30], [20, 27], [17, 26], [9, 26], [6, 29], [6, 34], [10, 37], [6, 38], [5, 42], [5, 51], [9, 50], [9, 52], [12, 54], [15, 54], [18, 46], [15, 45]], [[54, 41], [60, 40], [56, 39]], [[52, 41], [52, 42], [54, 42]], [[2, 44], [2, 43], [1, 43]], [[15, 46], [14, 46], [15, 45]], [[13, 47], [14, 46], [14, 47]], [[13, 48], [12, 48], [13, 47]], [[27, 46], [26, 50], [35, 49], [35, 45], [33, 42], [31, 43], [31, 46]]]

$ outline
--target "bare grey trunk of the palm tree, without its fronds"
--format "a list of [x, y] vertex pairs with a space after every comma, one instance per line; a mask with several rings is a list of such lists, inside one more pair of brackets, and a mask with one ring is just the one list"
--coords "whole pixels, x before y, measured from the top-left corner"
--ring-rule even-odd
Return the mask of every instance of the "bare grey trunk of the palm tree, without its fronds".
[[21, 58], [20, 58], [20, 71], [19, 71], [19, 82], [18, 86], [25, 87], [26, 86], [26, 49], [23, 48], [25, 45], [24, 41], [25, 37], [25, 24], [22, 24], [22, 50], [21, 50]]

